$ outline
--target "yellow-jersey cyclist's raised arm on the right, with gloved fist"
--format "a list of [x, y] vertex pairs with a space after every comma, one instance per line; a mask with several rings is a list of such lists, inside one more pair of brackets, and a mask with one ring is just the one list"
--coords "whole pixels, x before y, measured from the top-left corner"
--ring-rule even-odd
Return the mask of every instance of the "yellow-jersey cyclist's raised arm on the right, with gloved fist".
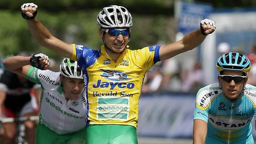
[[193, 48], [200, 45], [206, 35], [213, 33], [215, 31], [216, 24], [212, 20], [204, 19], [200, 23], [200, 28], [188, 33], [183, 39], [180, 41], [168, 44], [166, 46], [161, 46], [160, 48], [160, 60], [169, 59], [174, 57], [175, 55], [181, 54], [188, 50], [192, 50]]

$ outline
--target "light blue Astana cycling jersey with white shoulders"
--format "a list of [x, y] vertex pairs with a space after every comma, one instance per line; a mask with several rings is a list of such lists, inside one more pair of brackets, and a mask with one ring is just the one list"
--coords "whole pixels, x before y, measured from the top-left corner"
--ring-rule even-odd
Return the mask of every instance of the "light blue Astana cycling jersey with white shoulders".
[[256, 87], [245, 85], [241, 98], [232, 103], [213, 83], [198, 90], [194, 120], [208, 123], [206, 144], [254, 144], [252, 117], [256, 116]]

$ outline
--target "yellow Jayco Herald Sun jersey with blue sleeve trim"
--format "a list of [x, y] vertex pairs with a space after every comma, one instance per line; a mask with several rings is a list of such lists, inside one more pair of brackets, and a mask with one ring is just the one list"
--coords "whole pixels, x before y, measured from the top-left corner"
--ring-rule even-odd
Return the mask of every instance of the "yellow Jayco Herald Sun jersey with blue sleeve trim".
[[93, 50], [72, 44], [73, 60], [83, 72], [87, 96], [87, 125], [116, 124], [137, 128], [139, 97], [147, 72], [159, 58], [159, 45], [126, 48], [115, 63], [104, 46]]

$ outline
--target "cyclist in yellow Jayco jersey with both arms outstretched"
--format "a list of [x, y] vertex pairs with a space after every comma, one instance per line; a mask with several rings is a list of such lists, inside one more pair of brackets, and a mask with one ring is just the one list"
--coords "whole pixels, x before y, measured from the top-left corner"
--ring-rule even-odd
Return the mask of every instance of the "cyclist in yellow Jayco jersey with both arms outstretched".
[[132, 16], [125, 7], [112, 5], [97, 16], [104, 45], [93, 50], [54, 37], [35, 18], [37, 5], [23, 4], [21, 10], [41, 45], [78, 61], [83, 70], [88, 98], [87, 144], [137, 144], [138, 101], [147, 70], [158, 61], [192, 50], [216, 28], [214, 21], [204, 19], [200, 28], [178, 42], [130, 50]]

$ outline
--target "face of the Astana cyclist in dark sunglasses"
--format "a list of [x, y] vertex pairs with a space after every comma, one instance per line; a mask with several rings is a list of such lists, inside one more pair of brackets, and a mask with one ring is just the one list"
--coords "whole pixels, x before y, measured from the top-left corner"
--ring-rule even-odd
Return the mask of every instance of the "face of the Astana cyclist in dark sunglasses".
[[[230, 70], [224, 70], [223, 75], [244, 76], [243, 72], [241, 71]], [[221, 78], [221, 76], [218, 76], [219, 85], [222, 85], [223, 93], [227, 98], [230, 99], [230, 101], [235, 101], [240, 96], [247, 79], [248, 78], [243, 78], [243, 80], [240, 82], [235, 82], [236, 80], [232, 79], [230, 82], [228, 82], [227, 79], [225, 80], [224, 78]]]

